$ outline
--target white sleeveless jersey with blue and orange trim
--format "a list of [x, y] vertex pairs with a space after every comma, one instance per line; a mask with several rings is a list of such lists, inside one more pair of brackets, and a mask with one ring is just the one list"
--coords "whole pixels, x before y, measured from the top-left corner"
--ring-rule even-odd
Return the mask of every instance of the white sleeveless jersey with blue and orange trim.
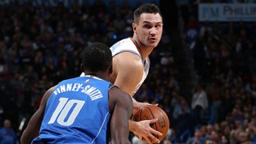
[[[138, 57], [140, 57], [142, 59], [142, 56], [139, 52], [140, 48], [139, 48], [138, 44], [134, 41], [133, 38], [125, 38], [119, 42], [116, 42], [113, 46], [110, 47], [110, 50], [112, 52], [113, 57], [120, 53], [129, 52], [129, 53], [138, 55]], [[146, 76], [147, 76], [147, 74], [149, 72], [149, 68], [150, 68], [150, 58], [146, 58], [145, 62], [142, 61], [142, 64], [144, 66], [143, 76], [142, 76], [141, 81], [136, 86], [136, 89], [134, 90], [132, 96], [137, 92], [139, 87], [142, 85], [142, 83], [146, 79]]]

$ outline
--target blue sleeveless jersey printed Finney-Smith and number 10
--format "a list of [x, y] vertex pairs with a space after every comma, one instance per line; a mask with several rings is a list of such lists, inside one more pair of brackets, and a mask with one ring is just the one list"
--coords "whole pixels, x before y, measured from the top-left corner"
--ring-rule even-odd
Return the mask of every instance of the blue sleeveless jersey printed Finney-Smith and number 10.
[[33, 142], [107, 143], [110, 86], [90, 76], [60, 82], [46, 103], [40, 134]]

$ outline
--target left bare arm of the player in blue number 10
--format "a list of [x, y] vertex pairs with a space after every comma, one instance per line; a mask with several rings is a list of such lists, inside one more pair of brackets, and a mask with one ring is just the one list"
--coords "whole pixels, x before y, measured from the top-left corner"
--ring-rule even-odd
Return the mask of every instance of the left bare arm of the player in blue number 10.
[[49, 90], [46, 91], [46, 93], [42, 97], [38, 110], [30, 118], [30, 122], [28, 123], [26, 130], [24, 130], [21, 137], [22, 144], [31, 143], [34, 138], [38, 137], [42, 118], [46, 109], [46, 102], [50, 97], [50, 94], [53, 92], [54, 87], [51, 87]]

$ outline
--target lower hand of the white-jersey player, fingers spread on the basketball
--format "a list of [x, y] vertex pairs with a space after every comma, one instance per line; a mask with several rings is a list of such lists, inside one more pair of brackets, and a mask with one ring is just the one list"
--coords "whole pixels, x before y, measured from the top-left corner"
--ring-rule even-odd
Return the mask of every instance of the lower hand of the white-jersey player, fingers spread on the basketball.
[[150, 127], [150, 124], [154, 122], [158, 122], [158, 118], [137, 122], [137, 128], [133, 132], [139, 140], [147, 143], [160, 143], [160, 140], [155, 136], [162, 136], [162, 133]]

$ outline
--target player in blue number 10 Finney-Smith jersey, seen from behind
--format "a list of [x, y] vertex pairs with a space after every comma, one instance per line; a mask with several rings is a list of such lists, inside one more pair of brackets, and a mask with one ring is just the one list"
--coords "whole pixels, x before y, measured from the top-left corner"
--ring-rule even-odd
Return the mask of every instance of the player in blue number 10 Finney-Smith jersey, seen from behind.
[[[88, 46], [82, 60], [85, 76], [59, 82], [46, 91], [22, 134], [26, 143], [126, 144], [133, 110], [129, 94], [108, 82], [112, 73], [110, 48]], [[110, 134], [107, 132], [110, 131]]]

